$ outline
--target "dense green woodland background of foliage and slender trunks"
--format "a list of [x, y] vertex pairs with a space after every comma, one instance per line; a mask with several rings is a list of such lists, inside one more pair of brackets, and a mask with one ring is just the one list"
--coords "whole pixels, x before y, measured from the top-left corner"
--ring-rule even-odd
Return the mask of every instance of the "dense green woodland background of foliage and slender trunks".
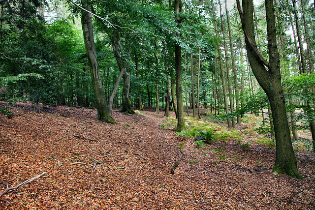
[[[301, 139], [297, 130], [310, 130], [313, 145], [303, 140], [312, 151], [315, 3], [273, 4], [292, 139]], [[253, 24], [257, 50], [269, 60], [265, 8], [264, 1], [254, 1]], [[95, 58], [110, 110], [128, 111], [123, 102], [129, 100], [139, 110], [164, 108], [165, 116], [190, 107], [188, 114], [200, 118], [203, 108], [228, 127], [250, 112], [261, 116], [261, 132], [273, 135], [270, 103], [252, 73], [240, 13], [227, 0], [0, 0], [1, 101], [32, 101], [35, 111], [40, 102], [97, 107], [81, 28], [84, 13], [93, 17]], [[10, 117], [10, 108], [1, 113]]]

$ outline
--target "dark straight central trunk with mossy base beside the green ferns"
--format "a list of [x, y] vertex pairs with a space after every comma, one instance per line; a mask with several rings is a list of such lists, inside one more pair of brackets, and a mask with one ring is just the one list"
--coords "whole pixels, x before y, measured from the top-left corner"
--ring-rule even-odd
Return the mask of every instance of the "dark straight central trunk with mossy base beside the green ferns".
[[[175, 0], [174, 3], [175, 19], [180, 28], [182, 20], [178, 17], [178, 13], [182, 11], [182, 0]], [[177, 33], [180, 38], [180, 32]], [[176, 80], [176, 101], [177, 101], [177, 127], [176, 132], [181, 132], [186, 129], [184, 119], [184, 105], [183, 105], [183, 89], [182, 89], [182, 48], [178, 42], [175, 43], [175, 80]]]

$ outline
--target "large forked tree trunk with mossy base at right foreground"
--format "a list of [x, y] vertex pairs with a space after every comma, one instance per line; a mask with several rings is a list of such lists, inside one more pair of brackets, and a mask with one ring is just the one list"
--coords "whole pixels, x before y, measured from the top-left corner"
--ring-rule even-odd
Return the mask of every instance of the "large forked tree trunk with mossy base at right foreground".
[[265, 0], [269, 62], [264, 60], [257, 49], [252, 15], [253, 2], [252, 0], [243, 0], [242, 4], [244, 16], [241, 11], [240, 2], [237, 0], [237, 7], [245, 34], [248, 59], [258, 83], [266, 92], [272, 111], [277, 149], [273, 170], [278, 174], [287, 174], [298, 179], [303, 179], [297, 170], [297, 161], [286, 118], [273, 0]]

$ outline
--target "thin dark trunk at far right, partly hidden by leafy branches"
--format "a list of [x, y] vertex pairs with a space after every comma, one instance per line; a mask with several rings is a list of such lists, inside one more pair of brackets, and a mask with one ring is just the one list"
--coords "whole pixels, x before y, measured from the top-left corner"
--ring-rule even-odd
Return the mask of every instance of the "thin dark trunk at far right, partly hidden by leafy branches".
[[[303, 49], [303, 41], [302, 41], [302, 37], [301, 37], [301, 31], [300, 31], [300, 23], [299, 23], [299, 18], [298, 18], [298, 14], [297, 14], [297, 6], [296, 6], [296, 1], [292, 0], [293, 3], [293, 8], [294, 8], [294, 18], [295, 18], [295, 26], [296, 26], [296, 34], [297, 34], [297, 38], [299, 41], [299, 45], [300, 45], [300, 56], [301, 56], [301, 64], [302, 64], [302, 72], [304, 74], [307, 74], [307, 68], [306, 68], [306, 60], [305, 60], [305, 54], [304, 54], [304, 49]], [[304, 89], [303, 92], [305, 94], [309, 94], [309, 90], [308, 89]], [[311, 105], [310, 102], [308, 100], [305, 100], [306, 102], [306, 109], [304, 109], [304, 112], [306, 113], [307, 117], [308, 117], [308, 121], [310, 123], [310, 131], [312, 134], [312, 139], [313, 139], [313, 150], [315, 151], [315, 122], [314, 122], [314, 118], [312, 116], [311, 113]]]

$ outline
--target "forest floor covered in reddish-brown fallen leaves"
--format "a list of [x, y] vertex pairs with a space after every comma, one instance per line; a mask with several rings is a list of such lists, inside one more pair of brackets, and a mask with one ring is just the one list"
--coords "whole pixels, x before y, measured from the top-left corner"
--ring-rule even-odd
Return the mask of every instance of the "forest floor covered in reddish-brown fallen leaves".
[[161, 129], [168, 119], [153, 110], [113, 112], [116, 125], [82, 107], [36, 113], [16, 103], [12, 113], [0, 115], [0, 193], [47, 174], [0, 196], [0, 210], [315, 209], [315, 155], [306, 151], [296, 152], [296, 180], [272, 174], [274, 148], [245, 150], [232, 138], [198, 148]]

